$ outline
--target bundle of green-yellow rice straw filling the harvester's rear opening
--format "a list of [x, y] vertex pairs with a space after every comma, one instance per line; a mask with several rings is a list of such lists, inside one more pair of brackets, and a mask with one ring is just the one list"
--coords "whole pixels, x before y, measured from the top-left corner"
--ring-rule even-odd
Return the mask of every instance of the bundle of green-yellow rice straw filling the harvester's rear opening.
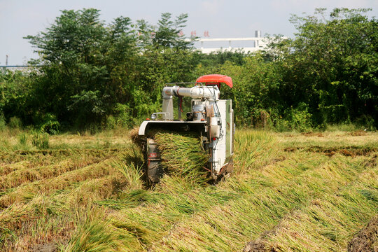
[[161, 152], [162, 167], [168, 174], [184, 176], [193, 183], [206, 181], [209, 155], [196, 134], [158, 133], [155, 141]]

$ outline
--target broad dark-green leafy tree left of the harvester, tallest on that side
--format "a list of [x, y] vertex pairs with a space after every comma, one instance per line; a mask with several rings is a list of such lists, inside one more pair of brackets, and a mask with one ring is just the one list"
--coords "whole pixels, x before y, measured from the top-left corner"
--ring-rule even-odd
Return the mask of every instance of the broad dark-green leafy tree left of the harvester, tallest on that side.
[[27, 36], [43, 64], [34, 107], [83, 126], [99, 123], [116, 102], [130, 100], [138, 53], [131, 25], [130, 18], [120, 17], [106, 26], [92, 8], [63, 10], [46, 31]]

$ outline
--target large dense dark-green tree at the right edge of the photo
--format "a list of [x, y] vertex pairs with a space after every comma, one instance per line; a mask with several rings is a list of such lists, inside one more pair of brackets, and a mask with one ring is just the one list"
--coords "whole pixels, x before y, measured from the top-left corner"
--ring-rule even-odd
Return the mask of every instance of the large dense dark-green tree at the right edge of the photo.
[[335, 8], [329, 18], [325, 9], [293, 15], [295, 38], [274, 48], [284, 48], [281, 93], [288, 106], [308, 104], [318, 124], [361, 118], [378, 123], [378, 30], [367, 11]]

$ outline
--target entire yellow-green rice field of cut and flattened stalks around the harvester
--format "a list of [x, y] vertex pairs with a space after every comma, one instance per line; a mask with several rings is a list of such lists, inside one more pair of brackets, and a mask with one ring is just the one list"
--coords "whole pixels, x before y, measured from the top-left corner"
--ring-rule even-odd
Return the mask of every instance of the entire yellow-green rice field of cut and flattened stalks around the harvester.
[[237, 130], [230, 178], [151, 187], [127, 130], [5, 130], [0, 251], [378, 251], [377, 157], [377, 132]]

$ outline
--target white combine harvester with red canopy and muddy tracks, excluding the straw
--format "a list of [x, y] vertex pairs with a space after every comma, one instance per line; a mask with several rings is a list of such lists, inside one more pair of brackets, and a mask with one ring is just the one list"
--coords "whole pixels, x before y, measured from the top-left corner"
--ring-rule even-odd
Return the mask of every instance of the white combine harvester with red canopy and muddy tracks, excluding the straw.
[[[221, 83], [232, 87], [229, 76], [211, 74], [197, 78], [195, 83], [169, 83], [162, 90], [162, 112], [153, 113], [139, 127], [139, 136], [145, 137], [146, 174], [156, 183], [164, 174], [160, 151], [151, 132], [195, 132], [202, 148], [209, 154], [207, 167], [211, 179], [217, 180], [232, 172], [234, 153], [234, 111], [232, 100], [219, 99]], [[193, 85], [180, 87], [179, 85]], [[174, 119], [173, 98], [178, 97], [178, 113]], [[181, 118], [183, 97], [191, 97], [191, 111], [186, 120]], [[185, 165], [185, 164], [183, 164]]]

